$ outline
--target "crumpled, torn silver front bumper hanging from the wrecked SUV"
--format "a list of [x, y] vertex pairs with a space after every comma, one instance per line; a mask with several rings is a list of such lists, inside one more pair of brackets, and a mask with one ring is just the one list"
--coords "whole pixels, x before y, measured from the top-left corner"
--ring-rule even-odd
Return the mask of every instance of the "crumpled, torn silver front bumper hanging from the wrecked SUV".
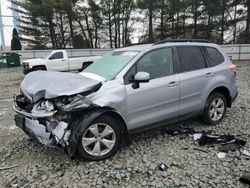
[[54, 121], [54, 113], [51, 113], [51, 117], [45, 114], [44, 117], [37, 117], [32, 113], [26, 112], [18, 107], [14, 98], [13, 109], [17, 113], [15, 115], [16, 126], [21, 128], [28, 136], [36, 140], [37, 142], [46, 146], [61, 145], [66, 147], [68, 145], [68, 139], [70, 130], [68, 130], [68, 123], [64, 121]]

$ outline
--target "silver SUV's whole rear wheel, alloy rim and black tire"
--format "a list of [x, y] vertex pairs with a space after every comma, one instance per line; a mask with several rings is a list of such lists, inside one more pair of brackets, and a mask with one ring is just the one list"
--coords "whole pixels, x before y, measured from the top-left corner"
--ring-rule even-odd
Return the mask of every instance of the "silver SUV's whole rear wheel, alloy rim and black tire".
[[222, 93], [212, 93], [206, 102], [204, 120], [209, 125], [219, 124], [227, 110], [227, 101]]

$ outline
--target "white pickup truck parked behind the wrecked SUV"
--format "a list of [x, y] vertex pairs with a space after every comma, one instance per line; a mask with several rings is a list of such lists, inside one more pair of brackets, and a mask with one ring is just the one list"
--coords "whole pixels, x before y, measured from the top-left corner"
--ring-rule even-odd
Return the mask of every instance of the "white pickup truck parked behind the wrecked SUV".
[[31, 71], [75, 71], [83, 70], [101, 56], [69, 58], [66, 50], [54, 50], [43, 58], [28, 59], [22, 62], [23, 73]]

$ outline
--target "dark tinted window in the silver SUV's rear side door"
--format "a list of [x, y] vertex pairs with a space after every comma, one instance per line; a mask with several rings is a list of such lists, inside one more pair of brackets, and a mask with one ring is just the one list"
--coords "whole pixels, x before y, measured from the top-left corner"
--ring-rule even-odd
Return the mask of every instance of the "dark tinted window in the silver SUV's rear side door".
[[188, 72], [206, 68], [205, 58], [198, 46], [177, 47], [180, 72]]

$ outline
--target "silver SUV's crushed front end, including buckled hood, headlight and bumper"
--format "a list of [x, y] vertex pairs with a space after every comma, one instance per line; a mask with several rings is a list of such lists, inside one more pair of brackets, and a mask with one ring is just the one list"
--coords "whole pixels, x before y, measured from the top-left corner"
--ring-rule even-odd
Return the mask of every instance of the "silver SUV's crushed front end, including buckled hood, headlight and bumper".
[[14, 96], [16, 125], [43, 145], [67, 147], [72, 115], [92, 106], [86, 96], [101, 85], [73, 73], [30, 73], [21, 83], [20, 94]]

